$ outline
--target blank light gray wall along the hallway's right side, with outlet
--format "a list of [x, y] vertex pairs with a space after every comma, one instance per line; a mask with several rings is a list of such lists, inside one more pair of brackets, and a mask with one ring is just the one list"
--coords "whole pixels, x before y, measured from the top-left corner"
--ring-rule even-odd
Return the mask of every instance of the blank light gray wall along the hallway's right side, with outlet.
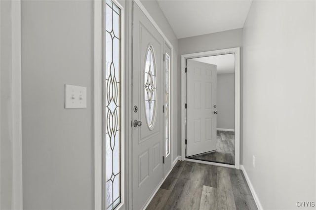
[[254, 0], [244, 25], [243, 165], [263, 209], [315, 202], [315, 6]]

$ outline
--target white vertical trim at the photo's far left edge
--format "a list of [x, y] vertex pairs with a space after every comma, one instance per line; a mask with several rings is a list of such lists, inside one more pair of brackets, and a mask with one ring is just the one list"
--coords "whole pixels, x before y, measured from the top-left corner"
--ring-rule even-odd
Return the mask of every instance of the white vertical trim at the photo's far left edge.
[[[1, 10], [0, 2], [0, 10]], [[8, 95], [9, 98], [5, 98], [5, 102], [9, 105], [8, 119], [5, 123], [9, 126], [10, 143], [11, 143], [11, 156], [12, 159], [12, 192], [11, 192], [11, 208], [16, 210], [23, 209], [23, 178], [22, 178], [22, 49], [21, 49], [21, 0], [9, 0], [7, 1], [11, 6], [10, 25], [9, 31], [11, 39], [11, 69], [8, 71], [10, 80]], [[2, 5], [3, 9], [3, 5]], [[0, 17], [1, 21], [1, 17]], [[1, 32], [1, 28], [0, 28]], [[1, 38], [1, 33], [0, 33]], [[1, 40], [0, 40], [1, 46]], [[0, 58], [1, 63], [1, 58]], [[1, 66], [0, 66], [1, 69]], [[4, 70], [3, 70], [4, 71]], [[1, 78], [2, 69], [0, 70]], [[3, 100], [3, 99], [2, 99]], [[0, 98], [1, 101], [1, 98]], [[0, 113], [1, 115], [1, 113]], [[1, 124], [0, 124], [1, 127]], [[0, 130], [1, 133], [1, 130]], [[0, 137], [1, 145], [1, 137]], [[6, 160], [3, 160], [6, 161]], [[1, 164], [0, 164], [1, 172]], [[1, 176], [1, 173], [0, 173]], [[0, 180], [1, 185], [1, 180]], [[0, 198], [1, 203], [1, 198]]]

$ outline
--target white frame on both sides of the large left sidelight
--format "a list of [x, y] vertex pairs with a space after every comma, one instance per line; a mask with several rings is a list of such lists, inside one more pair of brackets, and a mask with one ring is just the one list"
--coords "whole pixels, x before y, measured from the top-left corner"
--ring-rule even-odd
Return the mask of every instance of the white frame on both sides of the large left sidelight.
[[[120, 58], [121, 58], [121, 203], [116, 207], [117, 210], [119, 209], [127, 209], [128, 205], [128, 179], [126, 178], [126, 171], [128, 171], [128, 166], [126, 165], [127, 160], [127, 145], [128, 145], [128, 134], [129, 134], [129, 123], [126, 121], [126, 114], [127, 113], [127, 105], [126, 102], [126, 91], [127, 91], [127, 84], [129, 84], [128, 80], [128, 73], [126, 70], [127, 63], [127, 56], [126, 46], [127, 41], [125, 41], [125, 31], [127, 29], [128, 23], [125, 19], [126, 10], [125, 5], [122, 6], [118, 0], [112, 0], [121, 10], [120, 14]], [[126, 2], [127, 3], [127, 2]], [[95, 210], [102, 210], [104, 209], [104, 199], [106, 198], [105, 195], [105, 174], [106, 174], [106, 157], [103, 155], [104, 152], [104, 144], [103, 144], [103, 134], [104, 134], [104, 97], [103, 97], [103, 76], [104, 76], [104, 0], [93, 0], [93, 11], [94, 11], [94, 39], [93, 39], [93, 46], [94, 46], [94, 54], [93, 54], [93, 139], [94, 139], [94, 209]]]

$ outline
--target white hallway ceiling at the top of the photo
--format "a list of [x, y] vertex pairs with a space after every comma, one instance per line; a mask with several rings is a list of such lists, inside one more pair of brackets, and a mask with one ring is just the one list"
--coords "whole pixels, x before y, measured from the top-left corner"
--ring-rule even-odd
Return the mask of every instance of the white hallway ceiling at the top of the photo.
[[157, 0], [177, 38], [243, 27], [252, 0]]

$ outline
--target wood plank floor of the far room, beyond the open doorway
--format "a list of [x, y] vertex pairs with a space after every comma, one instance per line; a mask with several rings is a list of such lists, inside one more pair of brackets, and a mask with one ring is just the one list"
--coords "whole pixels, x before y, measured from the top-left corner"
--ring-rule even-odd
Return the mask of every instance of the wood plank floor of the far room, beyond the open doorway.
[[218, 163], [235, 164], [235, 132], [217, 131], [216, 151], [193, 155], [188, 158]]

